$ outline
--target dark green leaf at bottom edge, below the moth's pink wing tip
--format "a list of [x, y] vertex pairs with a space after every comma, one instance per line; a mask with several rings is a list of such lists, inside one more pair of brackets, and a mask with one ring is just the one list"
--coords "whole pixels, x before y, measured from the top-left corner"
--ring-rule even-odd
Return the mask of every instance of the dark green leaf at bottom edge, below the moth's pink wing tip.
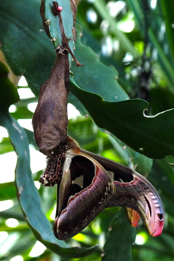
[[135, 228], [131, 227], [124, 209], [121, 209], [110, 224], [110, 232], [103, 248], [102, 261], [131, 261], [135, 236]]

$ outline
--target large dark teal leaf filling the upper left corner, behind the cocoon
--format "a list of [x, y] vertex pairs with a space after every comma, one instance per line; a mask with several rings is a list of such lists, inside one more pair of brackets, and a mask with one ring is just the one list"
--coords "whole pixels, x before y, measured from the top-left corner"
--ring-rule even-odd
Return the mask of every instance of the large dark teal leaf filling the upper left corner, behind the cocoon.
[[1, 50], [14, 74], [24, 75], [36, 96], [56, 59], [52, 42], [43, 29], [39, 9], [38, 0], [26, 3], [14, 0], [13, 4], [10, 0], [0, 2]]

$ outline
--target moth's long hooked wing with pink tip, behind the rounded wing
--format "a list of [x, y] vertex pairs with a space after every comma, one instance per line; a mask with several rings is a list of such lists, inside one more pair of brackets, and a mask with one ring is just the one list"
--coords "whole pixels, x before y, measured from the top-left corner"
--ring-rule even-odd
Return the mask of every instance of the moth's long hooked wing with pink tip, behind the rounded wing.
[[[81, 149], [95, 158], [113, 177], [116, 194], [107, 207], [122, 206], [137, 211], [152, 236], [158, 236], [163, 230], [164, 210], [161, 199], [152, 184], [139, 173], [117, 162]], [[134, 212], [133, 212], [134, 213]], [[127, 212], [129, 215], [129, 213]], [[134, 215], [135, 214], [135, 215]], [[138, 215], [128, 216], [132, 225], [137, 224]]]

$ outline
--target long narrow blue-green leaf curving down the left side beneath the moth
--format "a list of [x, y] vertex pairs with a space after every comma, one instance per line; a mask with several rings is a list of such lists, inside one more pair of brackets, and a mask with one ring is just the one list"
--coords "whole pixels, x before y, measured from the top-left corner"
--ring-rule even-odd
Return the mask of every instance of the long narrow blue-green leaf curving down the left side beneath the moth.
[[32, 179], [27, 135], [7, 112], [1, 112], [0, 124], [7, 128], [17, 154], [15, 170], [17, 195], [27, 223], [35, 237], [47, 248], [62, 256], [81, 257], [92, 253], [95, 246], [91, 248], [72, 247], [68, 250], [65, 242], [55, 238], [51, 224], [41, 210], [39, 193]]

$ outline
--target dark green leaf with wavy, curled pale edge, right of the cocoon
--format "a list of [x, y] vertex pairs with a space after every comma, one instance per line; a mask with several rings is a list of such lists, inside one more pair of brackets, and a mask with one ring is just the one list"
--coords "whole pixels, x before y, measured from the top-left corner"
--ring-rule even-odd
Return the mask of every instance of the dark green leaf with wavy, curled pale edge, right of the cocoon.
[[174, 109], [146, 116], [143, 111], [148, 108], [148, 103], [145, 100], [107, 102], [101, 96], [79, 88], [72, 78], [71, 92], [98, 127], [107, 129], [135, 151], [156, 159], [174, 153]]

